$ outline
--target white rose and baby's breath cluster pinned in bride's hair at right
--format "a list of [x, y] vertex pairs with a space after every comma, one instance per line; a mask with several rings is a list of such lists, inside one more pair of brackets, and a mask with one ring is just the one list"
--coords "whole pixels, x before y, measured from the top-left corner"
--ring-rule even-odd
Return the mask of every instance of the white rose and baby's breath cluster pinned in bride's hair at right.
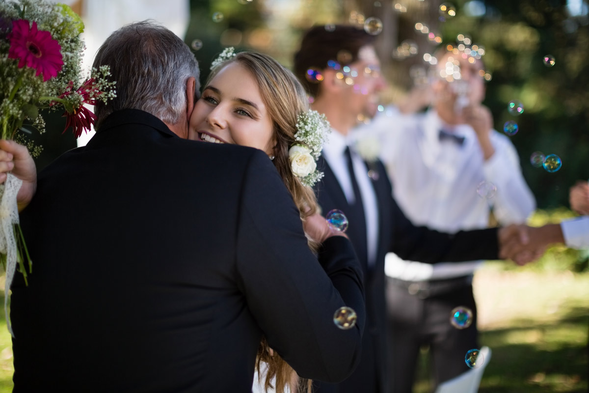
[[315, 161], [321, 154], [331, 126], [324, 114], [309, 110], [297, 117], [296, 130], [295, 143], [289, 150], [290, 168], [301, 183], [312, 187], [323, 177], [323, 172], [317, 171]]

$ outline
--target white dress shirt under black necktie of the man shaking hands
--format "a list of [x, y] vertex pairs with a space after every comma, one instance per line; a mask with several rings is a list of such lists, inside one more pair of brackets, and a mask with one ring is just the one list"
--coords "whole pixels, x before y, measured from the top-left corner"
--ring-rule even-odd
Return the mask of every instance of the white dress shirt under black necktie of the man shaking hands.
[[[374, 266], [374, 263], [376, 262], [376, 247], [378, 247], [378, 204], [376, 202], [374, 188], [372, 187], [372, 184], [370, 184], [372, 180], [368, 177], [368, 168], [362, 158], [360, 158], [355, 151], [355, 144], [353, 142], [353, 138], [346, 138], [337, 130], [332, 129], [326, 144], [323, 146], [322, 154], [323, 158], [325, 158], [325, 161], [327, 161], [327, 164], [329, 164], [329, 167], [332, 169], [333, 174], [335, 174], [340, 187], [342, 187], [346, 200], [348, 200], [348, 203], [353, 203], [355, 200], [352, 180], [350, 179], [348, 172], [348, 161], [343, 154], [346, 147], [350, 146], [352, 166], [354, 168], [354, 174], [356, 175], [356, 181], [358, 182], [360, 194], [362, 195], [362, 206], [366, 218], [368, 265]], [[343, 208], [341, 210], [344, 214], [346, 213]]]

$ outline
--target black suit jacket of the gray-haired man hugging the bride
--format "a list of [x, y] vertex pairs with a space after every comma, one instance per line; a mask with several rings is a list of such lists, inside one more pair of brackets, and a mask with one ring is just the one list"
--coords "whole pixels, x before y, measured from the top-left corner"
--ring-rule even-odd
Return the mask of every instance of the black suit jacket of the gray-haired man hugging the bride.
[[118, 111], [39, 175], [21, 223], [34, 269], [12, 286], [15, 392], [251, 392], [262, 334], [306, 378], [359, 362], [352, 245], [327, 239], [317, 262], [260, 150]]

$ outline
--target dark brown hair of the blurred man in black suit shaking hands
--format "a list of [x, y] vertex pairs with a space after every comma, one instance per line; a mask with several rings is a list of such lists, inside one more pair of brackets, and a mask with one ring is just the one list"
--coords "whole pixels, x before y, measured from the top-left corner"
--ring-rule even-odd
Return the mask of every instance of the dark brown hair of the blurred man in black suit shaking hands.
[[[358, 60], [358, 51], [366, 45], [373, 45], [375, 37], [362, 28], [349, 25], [318, 25], [310, 28], [300, 43], [300, 49], [294, 54], [294, 74], [299, 78], [307, 93], [312, 97], [317, 95], [319, 84], [310, 82], [305, 77], [309, 68], [325, 70], [330, 60], [342, 62], [342, 51], [351, 57], [346, 64]], [[338, 59], [338, 54], [340, 54]], [[348, 55], [349, 56], [349, 55]]]

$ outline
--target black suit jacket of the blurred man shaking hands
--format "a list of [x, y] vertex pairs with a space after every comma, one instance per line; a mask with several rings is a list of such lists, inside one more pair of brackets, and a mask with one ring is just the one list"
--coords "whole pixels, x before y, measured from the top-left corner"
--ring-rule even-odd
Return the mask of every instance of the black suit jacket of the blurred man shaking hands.
[[[325, 177], [315, 187], [323, 212], [340, 209], [345, 213], [346, 209], [350, 209], [349, 204], [335, 174], [323, 157], [320, 157], [317, 166], [325, 173]], [[376, 180], [371, 180], [378, 203], [379, 239], [374, 266], [368, 266], [365, 253], [358, 255], [364, 269], [366, 291], [366, 329], [362, 340], [362, 360], [356, 371], [342, 383], [315, 384], [316, 393], [390, 391], [386, 375], [386, 253], [394, 252], [403, 259], [426, 263], [498, 258], [496, 228], [461, 231], [451, 235], [415, 226], [393, 199], [391, 181], [386, 176], [383, 164], [376, 161], [370, 167], [375, 168], [379, 174]], [[359, 243], [360, 236], [366, 238], [366, 233], [355, 230], [353, 223], [350, 223], [347, 233], [355, 246]]]

